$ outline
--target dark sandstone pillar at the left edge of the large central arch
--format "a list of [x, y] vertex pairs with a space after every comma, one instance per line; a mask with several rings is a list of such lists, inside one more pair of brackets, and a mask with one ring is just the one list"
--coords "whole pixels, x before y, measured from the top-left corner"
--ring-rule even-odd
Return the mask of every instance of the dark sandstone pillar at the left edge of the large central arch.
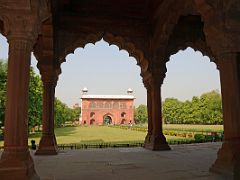
[[57, 75], [52, 68], [40, 68], [43, 81], [42, 137], [35, 155], [58, 154], [54, 133], [54, 100]]

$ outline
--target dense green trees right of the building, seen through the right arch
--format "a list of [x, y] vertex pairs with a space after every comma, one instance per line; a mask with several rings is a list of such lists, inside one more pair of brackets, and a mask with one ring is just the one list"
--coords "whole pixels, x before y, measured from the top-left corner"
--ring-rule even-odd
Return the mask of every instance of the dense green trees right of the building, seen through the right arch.
[[214, 90], [194, 96], [192, 101], [167, 98], [163, 102], [163, 119], [166, 124], [222, 124], [221, 95]]

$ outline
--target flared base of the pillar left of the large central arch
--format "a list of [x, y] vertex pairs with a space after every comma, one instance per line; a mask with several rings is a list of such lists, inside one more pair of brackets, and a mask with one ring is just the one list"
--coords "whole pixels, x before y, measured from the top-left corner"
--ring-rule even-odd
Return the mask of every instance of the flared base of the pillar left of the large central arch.
[[55, 135], [43, 135], [35, 155], [57, 155], [58, 146]]

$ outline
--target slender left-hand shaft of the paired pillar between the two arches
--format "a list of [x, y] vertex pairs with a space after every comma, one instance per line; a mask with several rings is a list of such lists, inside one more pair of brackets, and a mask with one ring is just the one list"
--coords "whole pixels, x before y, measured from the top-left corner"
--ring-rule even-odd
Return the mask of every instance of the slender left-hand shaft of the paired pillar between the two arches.
[[145, 138], [144, 147], [148, 148], [151, 145], [152, 136], [152, 98], [151, 98], [151, 86], [148, 82], [144, 82], [144, 86], [147, 89], [147, 111], [148, 111], [148, 133]]

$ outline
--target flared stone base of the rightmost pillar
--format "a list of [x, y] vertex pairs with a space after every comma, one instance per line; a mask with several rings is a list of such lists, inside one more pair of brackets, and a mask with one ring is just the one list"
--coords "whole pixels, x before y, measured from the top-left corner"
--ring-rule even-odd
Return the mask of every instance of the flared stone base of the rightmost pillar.
[[225, 179], [240, 179], [240, 139], [223, 143], [210, 171], [221, 174]]

